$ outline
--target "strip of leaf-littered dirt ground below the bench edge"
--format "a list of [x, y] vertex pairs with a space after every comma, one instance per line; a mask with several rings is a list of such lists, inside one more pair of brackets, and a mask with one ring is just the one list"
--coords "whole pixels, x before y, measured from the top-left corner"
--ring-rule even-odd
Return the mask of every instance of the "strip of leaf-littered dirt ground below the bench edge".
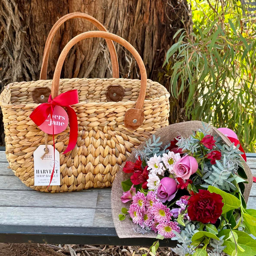
[[[0, 243], [0, 256], [138, 256], [148, 248], [74, 244]], [[159, 256], [174, 256], [170, 248], [159, 248]]]

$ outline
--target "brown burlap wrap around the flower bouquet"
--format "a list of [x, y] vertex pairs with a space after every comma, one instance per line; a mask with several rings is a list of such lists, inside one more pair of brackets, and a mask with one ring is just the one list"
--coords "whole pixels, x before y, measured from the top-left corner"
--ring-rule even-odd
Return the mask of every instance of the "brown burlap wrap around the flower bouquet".
[[[166, 145], [170, 142], [170, 140], [173, 140], [178, 135], [182, 135], [184, 137], [188, 137], [192, 134], [193, 131], [198, 130], [199, 128], [202, 128], [202, 122], [201, 121], [189, 121], [189, 122], [183, 122], [183, 123], [177, 123], [177, 124], [171, 124], [169, 126], [163, 127], [159, 129], [156, 133], [156, 137], [161, 137], [161, 140], [163, 142], [163, 145]], [[221, 136], [222, 143], [225, 143], [227, 145], [231, 145], [231, 142], [229, 139], [221, 132], [219, 132], [215, 127], [210, 126], [210, 134], [213, 136]], [[152, 136], [151, 136], [152, 137]], [[150, 138], [150, 137], [149, 137]], [[146, 145], [145, 142], [143, 142], [140, 146], [137, 147], [137, 150], [142, 150], [144, 146]], [[132, 161], [135, 162], [135, 154], [131, 154], [126, 161]], [[243, 162], [244, 170], [248, 177], [248, 184], [245, 184], [245, 190], [244, 190], [244, 199], [248, 200], [250, 190], [252, 187], [252, 173], [249, 168], [249, 166], [246, 164], [246, 162], [241, 157], [241, 161]], [[123, 189], [121, 186], [121, 182], [124, 180], [127, 180], [131, 174], [124, 173], [123, 167], [125, 162], [120, 167], [115, 180], [112, 184], [112, 190], [111, 190], [111, 209], [112, 209], [112, 217], [116, 229], [116, 233], [118, 234], [119, 238], [131, 238], [131, 237], [148, 237], [148, 238], [155, 238], [156, 234], [152, 232], [148, 232], [145, 234], [137, 233], [135, 232], [135, 229], [137, 228], [137, 225], [134, 224], [132, 221], [129, 220], [129, 218], [126, 218], [123, 221], [119, 220], [118, 215], [121, 213], [122, 207], [128, 207], [129, 202], [126, 204], [123, 204], [120, 197], [123, 195]]]

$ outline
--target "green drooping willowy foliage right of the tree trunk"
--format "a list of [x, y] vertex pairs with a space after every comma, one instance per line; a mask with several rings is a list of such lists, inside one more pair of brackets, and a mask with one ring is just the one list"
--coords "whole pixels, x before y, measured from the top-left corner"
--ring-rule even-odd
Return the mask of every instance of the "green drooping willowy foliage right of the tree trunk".
[[175, 63], [169, 91], [179, 98], [189, 90], [190, 119], [233, 129], [245, 151], [255, 152], [256, 11], [233, 0], [188, 2], [194, 33], [174, 35], [164, 63]]

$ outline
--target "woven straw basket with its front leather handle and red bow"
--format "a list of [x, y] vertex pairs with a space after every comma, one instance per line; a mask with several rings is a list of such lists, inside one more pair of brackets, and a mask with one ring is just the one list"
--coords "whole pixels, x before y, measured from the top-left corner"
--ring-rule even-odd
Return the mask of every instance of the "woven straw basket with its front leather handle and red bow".
[[[113, 40], [128, 49], [137, 61], [141, 80], [60, 79], [68, 51], [78, 41], [90, 37]], [[50, 44], [48, 41], [46, 47]], [[47, 61], [48, 57], [44, 59]], [[45, 71], [43, 74], [46, 76]], [[115, 74], [118, 76], [117, 70]], [[48, 87], [51, 87], [51, 94]], [[90, 31], [74, 37], [61, 52], [52, 80], [8, 84], [1, 93], [0, 104], [10, 168], [27, 186], [50, 192], [111, 186], [119, 166], [132, 149], [168, 125], [169, 115], [167, 90], [147, 80], [143, 61], [131, 44], [105, 31]], [[67, 113], [59, 110], [62, 107]], [[69, 126], [63, 130], [58, 126], [67, 125], [62, 120], [65, 115]], [[52, 130], [42, 127], [45, 120], [50, 121]], [[38, 126], [54, 135], [45, 136]], [[46, 148], [53, 145], [59, 153], [64, 153], [60, 154], [59, 162], [51, 165], [53, 169], [60, 165], [60, 184], [35, 186], [33, 154], [39, 145], [45, 144]]]

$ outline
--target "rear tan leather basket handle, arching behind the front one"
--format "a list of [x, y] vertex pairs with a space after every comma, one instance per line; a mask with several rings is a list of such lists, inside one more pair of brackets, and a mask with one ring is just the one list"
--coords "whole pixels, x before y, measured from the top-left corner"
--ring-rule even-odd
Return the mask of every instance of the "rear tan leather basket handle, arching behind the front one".
[[[92, 16], [85, 14], [85, 13], [69, 13], [63, 17], [61, 17], [52, 27], [46, 43], [45, 43], [45, 49], [44, 49], [44, 56], [42, 61], [42, 67], [40, 72], [40, 79], [46, 80], [47, 78], [47, 65], [48, 65], [48, 58], [50, 54], [50, 48], [52, 44], [52, 40], [57, 32], [57, 30], [60, 28], [60, 26], [67, 20], [73, 19], [73, 18], [84, 18], [86, 20], [89, 20], [91, 23], [93, 23], [99, 30], [101, 31], [108, 31], [97, 19], [93, 18]], [[118, 66], [118, 59], [117, 54], [115, 50], [115, 46], [112, 40], [106, 39], [106, 43], [109, 47], [110, 51], [110, 57], [112, 61], [112, 69], [113, 69], [113, 77], [119, 78], [119, 66]]]

